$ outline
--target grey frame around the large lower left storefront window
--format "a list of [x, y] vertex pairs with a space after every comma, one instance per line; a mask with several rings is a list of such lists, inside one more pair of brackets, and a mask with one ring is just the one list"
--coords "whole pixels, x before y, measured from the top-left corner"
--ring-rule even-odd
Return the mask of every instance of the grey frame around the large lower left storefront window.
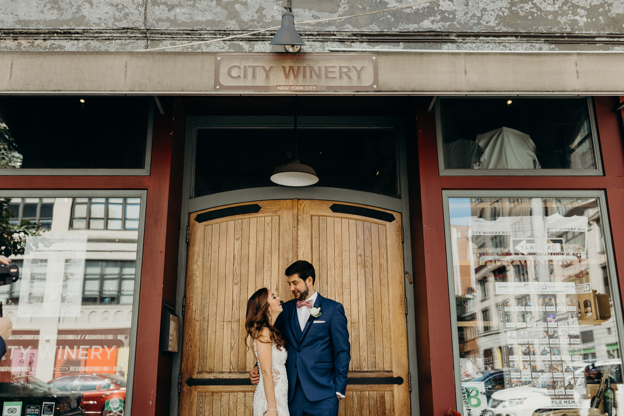
[[[127, 386], [126, 386], [126, 400], [127, 409], [132, 409], [132, 394], [134, 392], [134, 379], [135, 379], [135, 360], [137, 357], [137, 331], [139, 327], [139, 297], [141, 289], [141, 269], [143, 264], [143, 248], [145, 241], [145, 210], [147, 206], [147, 190], [145, 189], [131, 189], [131, 190], [110, 190], [110, 189], [68, 189], [68, 190], [50, 190], [50, 189], [34, 189], [16, 191], [9, 189], [0, 190], [1, 198], [90, 198], [95, 197], [105, 198], [140, 198], [139, 207], [139, 229], [132, 230], [137, 231], [137, 257], [135, 259], [135, 275], [134, 275], [134, 297], [132, 299], [132, 322], [130, 323], [130, 350], [128, 358], [128, 374], [127, 374]], [[73, 209], [73, 203], [72, 203]], [[119, 230], [113, 230], [119, 231]], [[84, 280], [83, 280], [84, 281]], [[81, 294], [82, 297], [82, 294]]]

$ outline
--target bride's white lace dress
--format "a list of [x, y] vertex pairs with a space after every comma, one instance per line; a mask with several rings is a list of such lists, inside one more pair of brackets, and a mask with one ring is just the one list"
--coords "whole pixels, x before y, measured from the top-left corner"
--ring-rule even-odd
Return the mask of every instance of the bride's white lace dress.
[[[253, 394], [253, 416], [262, 416], [269, 408], [266, 403], [265, 385], [260, 368], [260, 360], [258, 359], [258, 349], [256, 349], [256, 340], [253, 340], [253, 355], [256, 356], [258, 362], [258, 370], [260, 370], [260, 382], [256, 385], [256, 392]], [[273, 369], [273, 386], [275, 387], [275, 402], [277, 404], [277, 414], [279, 416], [290, 416], [288, 413], [288, 377], [286, 377], [286, 358], [288, 352], [286, 347], [281, 350], [276, 347], [275, 342], [271, 345], [271, 362]]]

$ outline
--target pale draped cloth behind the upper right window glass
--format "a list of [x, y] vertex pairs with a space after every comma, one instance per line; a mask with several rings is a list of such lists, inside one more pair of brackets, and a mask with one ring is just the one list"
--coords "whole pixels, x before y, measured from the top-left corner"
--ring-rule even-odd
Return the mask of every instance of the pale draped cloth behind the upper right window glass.
[[478, 134], [475, 142], [483, 149], [481, 169], [541, 169], [535, 143], [528, 134], [500, 127]]

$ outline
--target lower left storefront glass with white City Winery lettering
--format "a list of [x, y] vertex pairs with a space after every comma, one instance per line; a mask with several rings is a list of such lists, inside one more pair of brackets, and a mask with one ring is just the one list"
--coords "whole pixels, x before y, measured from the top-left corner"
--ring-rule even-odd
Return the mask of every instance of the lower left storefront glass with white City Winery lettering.
[[53, 402], [55, 416], [82, 414], [80, 406], [85, 414], [122, 415], [141, 198], [5, 201], [6, 227], [48, 222], [23, 236], [4, 235], [22, 249], [9, 257], [19, 279], [0, 286], [4, 317], [13, 324], [0, 364], [0, 399], [24, 407]]

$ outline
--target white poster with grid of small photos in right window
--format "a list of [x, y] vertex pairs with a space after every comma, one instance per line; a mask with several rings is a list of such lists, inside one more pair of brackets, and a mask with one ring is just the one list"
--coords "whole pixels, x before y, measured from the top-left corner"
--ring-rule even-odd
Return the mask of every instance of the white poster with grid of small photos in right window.
[[573, 282], [495, 282], [505, 389], [544, 389], [552, 408], [589, 407]]

